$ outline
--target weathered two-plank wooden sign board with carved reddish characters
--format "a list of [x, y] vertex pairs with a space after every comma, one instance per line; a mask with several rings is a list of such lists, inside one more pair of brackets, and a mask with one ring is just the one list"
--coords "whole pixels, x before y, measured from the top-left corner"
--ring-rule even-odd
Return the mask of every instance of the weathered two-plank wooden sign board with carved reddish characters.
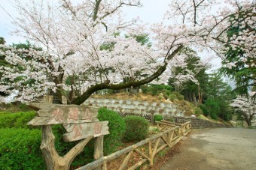
[[29, 125], [62, 124], [67, 131], [63, 135], [66, 142], [109, 134], [108, 121], [97, 119], [98, 107], [47, 103], [29, 103], [29, 106], [38, 110], [37, 116], [29, 121]]

